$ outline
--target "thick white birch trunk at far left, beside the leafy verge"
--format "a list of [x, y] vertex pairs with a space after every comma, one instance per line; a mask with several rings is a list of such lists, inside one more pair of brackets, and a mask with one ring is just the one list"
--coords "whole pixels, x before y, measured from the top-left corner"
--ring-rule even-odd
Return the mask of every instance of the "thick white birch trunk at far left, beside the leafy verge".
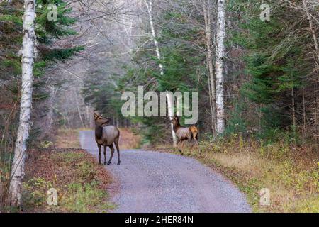
[[22, 43], [22, 86], [18, 135], [11, 169], [10, 194], [11, 205], [21, 206], [21, 184], [24, 177], [24, 161], [26, 159], [26, 140], [31, 127], [32, 90], [33, 90], [33, 46], [35, 0], [24, 1], [23, 43]]

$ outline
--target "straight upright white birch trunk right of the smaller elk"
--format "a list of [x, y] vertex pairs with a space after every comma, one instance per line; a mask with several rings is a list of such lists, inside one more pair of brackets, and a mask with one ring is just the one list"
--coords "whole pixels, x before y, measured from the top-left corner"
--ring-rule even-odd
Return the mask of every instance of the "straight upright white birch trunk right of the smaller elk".
[[225, 40], [225, 0], [217, 1], [217, 28], [216, 28], [216, 114], [217, 133], [225, 131], [225, 106], [224, 106], [224, 72], [223, 57]]

